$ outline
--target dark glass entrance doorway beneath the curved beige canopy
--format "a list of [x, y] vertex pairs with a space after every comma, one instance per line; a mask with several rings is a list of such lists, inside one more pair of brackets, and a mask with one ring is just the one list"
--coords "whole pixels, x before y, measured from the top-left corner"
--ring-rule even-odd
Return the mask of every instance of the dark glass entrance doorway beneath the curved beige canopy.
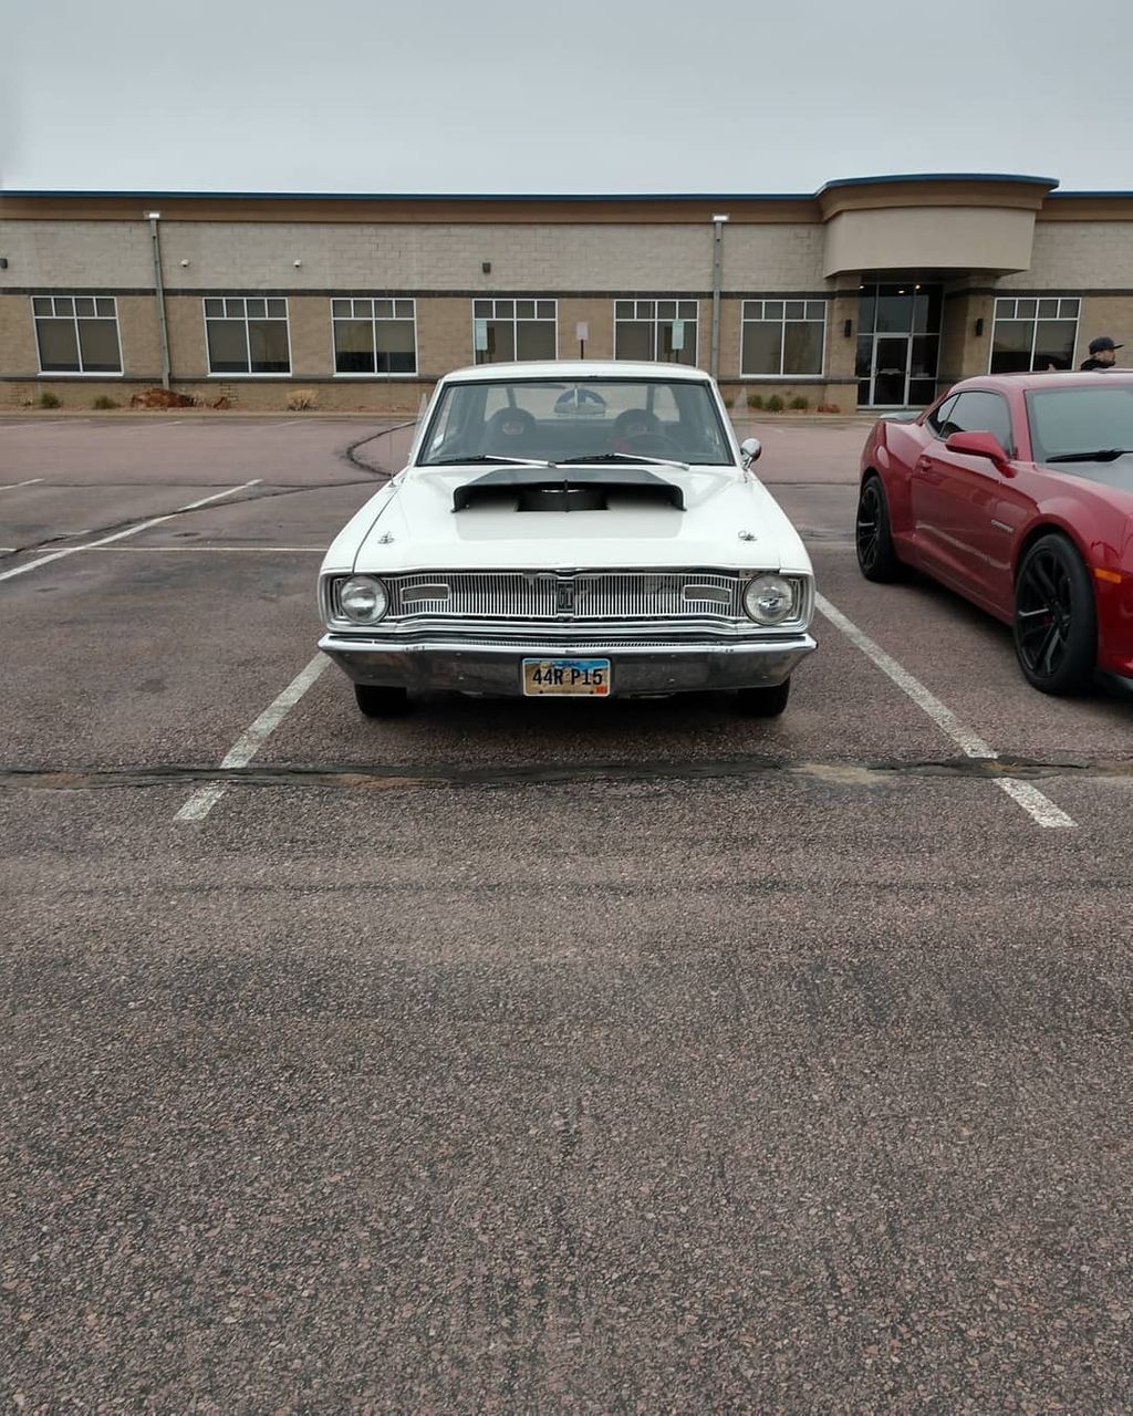
[[936, 396], [939, 285], [862, 285], [857, 379], [861, 408], [923, 408]]

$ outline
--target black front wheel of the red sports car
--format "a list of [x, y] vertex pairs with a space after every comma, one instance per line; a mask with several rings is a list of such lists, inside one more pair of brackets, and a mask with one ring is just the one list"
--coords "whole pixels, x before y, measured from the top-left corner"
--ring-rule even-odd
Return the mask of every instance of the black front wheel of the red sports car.
[[1015, 578], [1015, 654], [1040, 692], [1085, 692], [1098, 663], [1098, 612], [1081, 555], [1061, 535], [1044, 535]]

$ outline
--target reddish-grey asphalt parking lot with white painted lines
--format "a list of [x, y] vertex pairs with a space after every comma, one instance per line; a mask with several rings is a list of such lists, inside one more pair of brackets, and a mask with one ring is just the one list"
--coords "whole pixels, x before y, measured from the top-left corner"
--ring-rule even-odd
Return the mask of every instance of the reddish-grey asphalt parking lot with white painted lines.
[[862, 581], [783, 419], [782, 719], [370, 722], [377, 428], [0, 419], [8, 1409], [1133, 1409], [1133, 705]]

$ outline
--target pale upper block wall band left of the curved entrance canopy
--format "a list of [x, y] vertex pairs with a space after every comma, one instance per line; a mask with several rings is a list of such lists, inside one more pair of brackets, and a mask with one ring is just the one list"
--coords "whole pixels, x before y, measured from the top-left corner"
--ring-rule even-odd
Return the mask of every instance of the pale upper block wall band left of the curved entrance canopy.
[[[712, 228], [702, 225], [334, 225], [163, 221], [170, 290], [707, 290]], [[8, 221], [3, 283], [153, 285], [149, 222]], [[819, 225], [729, 225], [729, 290], [821, 289]], [[296, 261], [300, 265], [296, 266]], [[491, 272], [482, 270], [483, 262]], [[186, 262], [186, 263], [183, 263]], [[0, 283], [0, 287], [3, 287]]]

